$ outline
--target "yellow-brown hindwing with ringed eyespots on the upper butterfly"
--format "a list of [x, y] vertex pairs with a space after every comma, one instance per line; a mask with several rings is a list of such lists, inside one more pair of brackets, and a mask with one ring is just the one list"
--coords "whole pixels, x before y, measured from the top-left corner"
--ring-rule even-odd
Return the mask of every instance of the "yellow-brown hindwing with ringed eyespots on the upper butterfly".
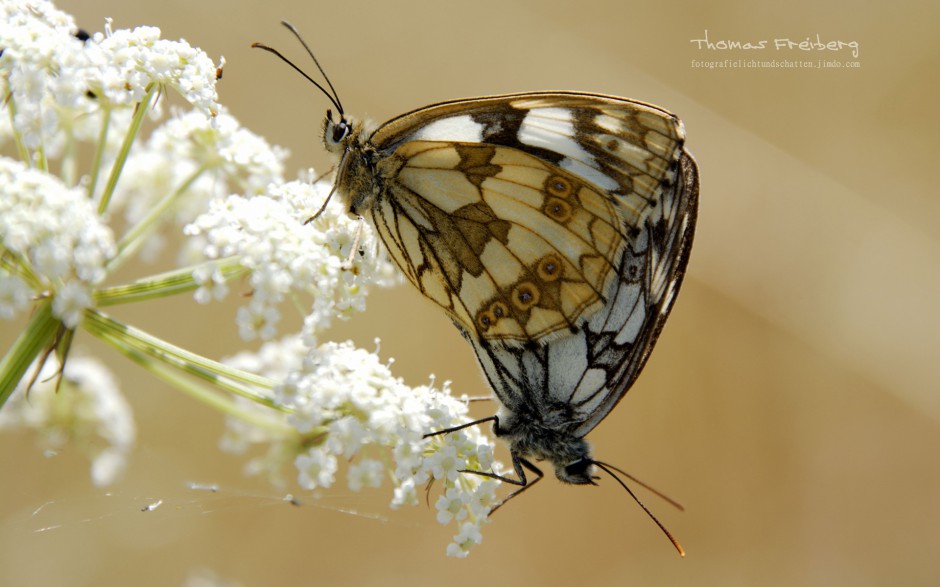
[[400, 153], [373, 218], [405, 274], [464, 328], [538, 340], [603, 303], [627, 238], [616, 202], [507, 147], [411, 141]]

